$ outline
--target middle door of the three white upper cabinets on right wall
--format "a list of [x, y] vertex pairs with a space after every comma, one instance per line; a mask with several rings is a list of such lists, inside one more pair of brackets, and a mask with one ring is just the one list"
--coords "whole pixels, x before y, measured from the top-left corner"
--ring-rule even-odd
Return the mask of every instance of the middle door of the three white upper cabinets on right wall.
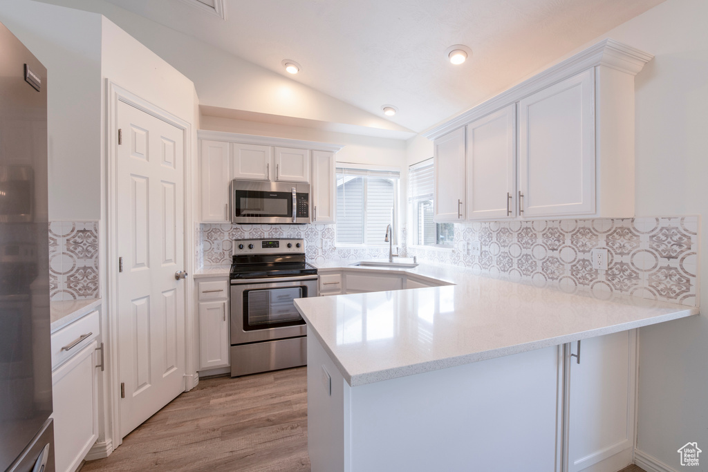
[[467, 125], [467, 219], [515, 214], [516, 105]]

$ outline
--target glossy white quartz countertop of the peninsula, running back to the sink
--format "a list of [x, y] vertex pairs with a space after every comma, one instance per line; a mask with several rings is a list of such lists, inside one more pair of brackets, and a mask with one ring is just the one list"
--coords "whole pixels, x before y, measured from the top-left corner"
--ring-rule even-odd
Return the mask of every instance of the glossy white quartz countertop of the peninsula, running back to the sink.
[[473, 275], [464, 267], [352, 267], [455, 285], [297, 299], [295, 306], [350, 386], [420, 374], [697, 315], [636, 297], [599, 300]]

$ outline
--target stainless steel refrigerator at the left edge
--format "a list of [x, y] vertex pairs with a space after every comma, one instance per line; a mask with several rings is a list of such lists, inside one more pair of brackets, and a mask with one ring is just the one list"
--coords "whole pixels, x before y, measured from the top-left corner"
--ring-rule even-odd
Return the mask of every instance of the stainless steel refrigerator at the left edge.
[[55, 470], [47, 69], [0, 24], [0, 471]]

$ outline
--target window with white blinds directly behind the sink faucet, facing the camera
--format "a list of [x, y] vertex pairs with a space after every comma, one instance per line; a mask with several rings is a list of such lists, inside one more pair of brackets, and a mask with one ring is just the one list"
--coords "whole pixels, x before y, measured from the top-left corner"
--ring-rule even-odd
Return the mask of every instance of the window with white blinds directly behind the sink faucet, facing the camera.
[[396, 243], [399, 172], [337, 167], [337, 243], [387, 244], [386, 227]]

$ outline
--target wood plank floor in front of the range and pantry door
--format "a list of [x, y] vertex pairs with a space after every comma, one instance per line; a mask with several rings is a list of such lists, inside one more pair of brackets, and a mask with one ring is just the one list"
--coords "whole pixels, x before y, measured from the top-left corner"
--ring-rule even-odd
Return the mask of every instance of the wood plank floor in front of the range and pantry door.
[[[307, 368], [200, 380], [123, 439], [92, 471], [310, 470]], [[644, 472], [629, 466], [620, 472]]]

